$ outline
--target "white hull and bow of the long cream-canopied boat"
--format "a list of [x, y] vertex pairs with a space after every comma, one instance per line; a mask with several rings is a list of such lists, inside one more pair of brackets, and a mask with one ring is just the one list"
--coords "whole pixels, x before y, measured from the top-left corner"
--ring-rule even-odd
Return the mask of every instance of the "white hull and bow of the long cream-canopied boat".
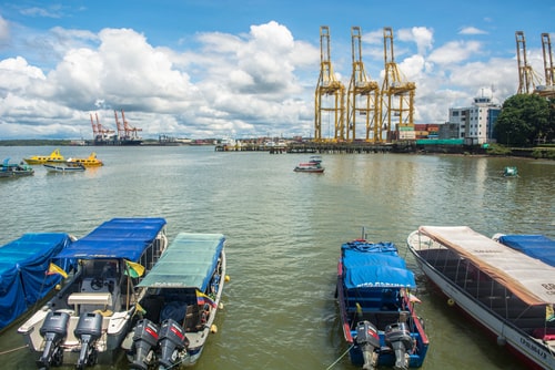
[[418, 232], [412, 233], [407, 238], [408, 249], [414, 255], [422, 271], [448, 299], [450, 304], [456, 305], [465, 315], [488, 332], [491, 337], [495, 338], [498, 345], [507, 346], [509, 351], [514, 352], [531, 368], [555, 369], [555, 357], [549, 353], [547, 346], [477, 302], [465, 289], [462, 289], [440, 273], [430, 260], [423, 257], [420, 249], [415, 247], [418, 243], [430, 244], [432, 241], [418, 235]]

